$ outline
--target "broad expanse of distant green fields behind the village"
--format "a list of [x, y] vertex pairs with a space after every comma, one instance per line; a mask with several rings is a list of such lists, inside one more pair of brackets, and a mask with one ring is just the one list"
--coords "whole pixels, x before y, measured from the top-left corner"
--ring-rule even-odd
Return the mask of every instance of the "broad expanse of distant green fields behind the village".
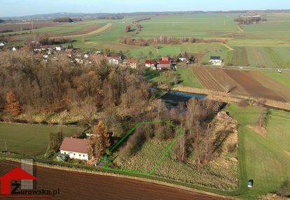
[[[138, 59], [158, 58], [165, 55], [179, 55], [181, 52], [205, 55], [200, 62], [206, 63], [210, 56], [221, 56], [224, 64], [235, 66], [268, 67], [290, 69], [290, 13], [267, 13], [267, 21], [258, 24], [239, 26], [234, 22], [239, 13], [199, 13], [186, 15], [156, 15], [151, 20], [141, 21], [141, 31], [134, 32], [135, 17], [122, 20], [88, 20], [76, 23], [62, 23], [55, 27], [34, 29], [32, 34], [15, 36], [19, 39], [32, 39], [37, 33], [51, 36], [76, 34], [88, 27], [102, 28], [111, 24], [108, 29], [90, 36], [72, 36], [74, 47], [83, 50], [122, 50], [125, 55]], [[133, 29], [125, 32], [130, 25]], [[18, 31], [22, 33], [27, 31]], [[120, 38], [157, 38], [160, 36], [195, 37], [224, 39], [219, 43], [184, 43], [182, 45], [149, 45], [139, 47], [120, 44]], [[68, 45], [68, 44], [65, 44]], [[153, 55], [153, 57], [149, 56]]]

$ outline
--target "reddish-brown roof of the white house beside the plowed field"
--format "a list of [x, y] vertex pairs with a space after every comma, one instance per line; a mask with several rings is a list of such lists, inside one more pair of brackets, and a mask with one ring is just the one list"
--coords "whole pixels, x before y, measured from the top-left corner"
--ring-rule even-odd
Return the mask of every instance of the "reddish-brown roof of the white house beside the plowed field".
[[88, 140], [79, 138], [64, 138], [60, 150], [71, 151], [71, 152], [88, 152]]

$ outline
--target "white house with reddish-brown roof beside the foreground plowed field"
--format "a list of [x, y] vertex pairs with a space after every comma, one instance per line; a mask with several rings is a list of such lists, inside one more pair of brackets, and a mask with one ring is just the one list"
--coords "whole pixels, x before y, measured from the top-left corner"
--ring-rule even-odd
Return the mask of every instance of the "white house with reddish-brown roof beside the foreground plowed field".
[[78, 138], [64, 138], [60, 146], [60, 153], [69, 155], [71, 159], [88, 160], [88, 140]]

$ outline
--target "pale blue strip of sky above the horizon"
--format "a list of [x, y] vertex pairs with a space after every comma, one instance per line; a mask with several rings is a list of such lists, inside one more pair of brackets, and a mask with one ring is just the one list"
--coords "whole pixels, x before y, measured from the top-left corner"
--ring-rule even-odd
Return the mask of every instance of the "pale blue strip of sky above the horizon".
[[44, 13], [132, 13], [290, 9], [290, 0], [0, 0], [0, 17]]

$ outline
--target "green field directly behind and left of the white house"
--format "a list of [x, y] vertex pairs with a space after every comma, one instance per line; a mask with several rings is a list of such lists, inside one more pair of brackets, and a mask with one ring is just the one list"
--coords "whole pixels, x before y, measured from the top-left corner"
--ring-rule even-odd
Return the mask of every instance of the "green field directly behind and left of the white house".
[[80, 127], [0, 123], [0, 152], [5, 151], [7, 146], [8, 152], [43, 155], [48, 148], [50, 133], [59, 130], [64, 132], [64, 136], [73, 136], [83, 131]]

